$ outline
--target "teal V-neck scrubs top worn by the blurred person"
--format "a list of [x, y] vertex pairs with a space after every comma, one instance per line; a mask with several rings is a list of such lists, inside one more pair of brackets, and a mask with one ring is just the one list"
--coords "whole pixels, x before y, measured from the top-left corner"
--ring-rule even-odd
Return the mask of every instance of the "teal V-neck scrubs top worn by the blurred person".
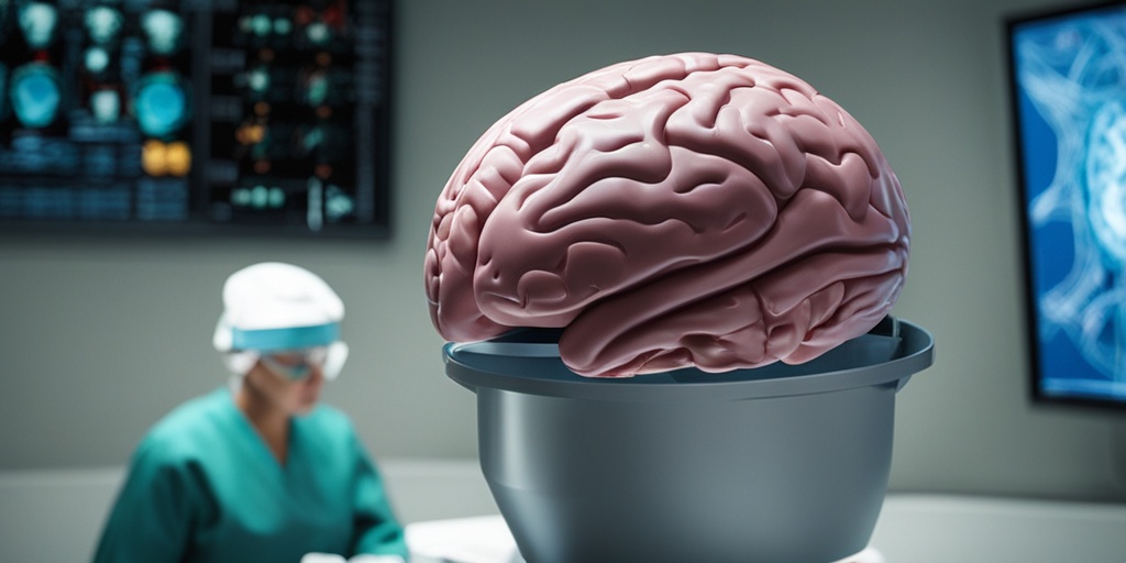
[[294, 417], [283, 465], [220, 388], [142, 440], [95, 562], [297, 563], [310, 552], [406, 558], [351, 422], [323, 404]]

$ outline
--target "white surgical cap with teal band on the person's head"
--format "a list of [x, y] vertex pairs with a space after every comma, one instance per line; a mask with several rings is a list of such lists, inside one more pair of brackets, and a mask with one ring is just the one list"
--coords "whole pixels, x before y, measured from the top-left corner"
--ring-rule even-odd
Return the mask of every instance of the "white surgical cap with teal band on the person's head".
[[223, 313], [212, 342], [239, 375], [261, 352], [328, 346], [324, 376], [332, 379], [348, 356], [340, 341], [343, 316], [343, 302], [315, 274], [288, 263], [256, 263], [224, 284]]

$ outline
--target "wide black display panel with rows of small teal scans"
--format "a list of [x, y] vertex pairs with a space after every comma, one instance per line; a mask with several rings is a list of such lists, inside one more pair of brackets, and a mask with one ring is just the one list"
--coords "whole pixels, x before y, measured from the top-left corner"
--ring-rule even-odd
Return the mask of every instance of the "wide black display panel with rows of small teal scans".
[[0, 229], [385, 236], [390, 0], [0, 0]]

